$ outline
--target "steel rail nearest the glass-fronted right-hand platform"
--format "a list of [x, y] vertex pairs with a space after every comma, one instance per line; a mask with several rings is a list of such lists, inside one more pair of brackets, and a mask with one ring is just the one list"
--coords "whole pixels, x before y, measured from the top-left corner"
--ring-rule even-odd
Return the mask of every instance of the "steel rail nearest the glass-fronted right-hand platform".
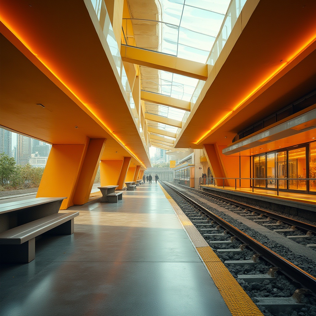
[[[181, 185], [181, 184], [176, 184], [176, 185]], [[187, 188], [187, 189], [190, 189], [191, 191], [196, 191], [198, 193], [202, 193], [202, 194], [205, 194], [205, 195], [208, 195], [210, 197], [215, 197], [215, 198], [218, 198], [224, 202], [227, 202], [227, 203], [230, 203], [230, 204], [234, 204], [236, 206], [239, 206], [239, 207], [242, 207], [244, 209], [248, 209], [252, 212], [256, 212], [256, 213], [259, 213], [259, 214], [263, 214], [263, 215], [267, 215], [268, 217], [271, 217], [277, 221], [281, 221], [285, 224], [288, 224], [290, 226], [295, 226], [297, 228], [299, 228], [301, 231], [303, 231], [304, 233], [307, 233], [307, 232], [312, 232], [312, 233], [315, 233], [316, 234], [316, 226], [315, 225], [312, 225], [312, 224], [308, 224], [308, 223], [305, 223], [305, 222], [301, 222], [301, 221], [298, 221], [298, 220], [295, 220], [293, 218], [289, 218], [289, 217], [286, 217], [286, 216], [283, 216], [283, 215], [278, 215], [278, 214], [275, 214], [273, 212], [270, 212], [270, 211], [266, 211], [266, 210], [262, 210], [262, 209], [259, 209], [258, 207], [255, 207], [255, 206], [252, 206], [252, 205], [249, 205], [249, 204], [246, 204], [246, 203], [241, 203], [241, 202], [237, 202], [235, 200], [231, 200], [227, 197], [221, 197], [220, 195], [216, 195], [214, 193], [209, 193], [209, 192], [206, 192], [206, 191], [201, 191], [201, 190], [197, 190], [197, 189], [193, 189], [193, 188], [189, 188], [185, 185], [181, 185], [182, 187], [184, 188]]]

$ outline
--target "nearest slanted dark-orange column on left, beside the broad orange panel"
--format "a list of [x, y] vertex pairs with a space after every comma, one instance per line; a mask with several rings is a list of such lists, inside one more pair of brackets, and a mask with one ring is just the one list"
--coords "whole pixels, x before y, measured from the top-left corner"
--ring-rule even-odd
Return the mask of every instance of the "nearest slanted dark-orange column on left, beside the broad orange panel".
[[88, 202], [95, 175], [98, 171], [100, 158], [103, 154], [106, 139], [90, 139], [83, 161], [73, 203], [82, 205]]

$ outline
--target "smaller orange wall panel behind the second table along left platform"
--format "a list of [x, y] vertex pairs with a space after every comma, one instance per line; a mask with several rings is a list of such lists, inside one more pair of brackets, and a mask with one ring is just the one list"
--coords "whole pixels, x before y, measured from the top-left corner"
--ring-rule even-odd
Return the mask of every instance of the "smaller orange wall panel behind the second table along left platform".
[[118, 185], [123, 160], [101, 160], [100, 179], [101, 186]]

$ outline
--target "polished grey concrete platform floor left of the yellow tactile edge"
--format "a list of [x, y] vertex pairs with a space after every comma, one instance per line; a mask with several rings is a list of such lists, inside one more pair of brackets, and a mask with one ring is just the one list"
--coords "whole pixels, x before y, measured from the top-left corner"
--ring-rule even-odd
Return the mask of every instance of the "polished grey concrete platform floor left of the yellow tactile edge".
[[1, 266], [1, 316], [231, 315], [158, 184], [99, 201], [68, 209], [73, 235]]

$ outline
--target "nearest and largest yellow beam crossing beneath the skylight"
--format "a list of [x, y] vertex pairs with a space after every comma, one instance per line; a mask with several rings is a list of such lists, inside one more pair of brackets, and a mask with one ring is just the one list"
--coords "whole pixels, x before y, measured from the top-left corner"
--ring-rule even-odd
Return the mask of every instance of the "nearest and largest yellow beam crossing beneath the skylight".
[[122, 60], [128, 63], [165, 70], [175, 74], [206, 81], [207, 64], [179, 57], [121, 45]]

